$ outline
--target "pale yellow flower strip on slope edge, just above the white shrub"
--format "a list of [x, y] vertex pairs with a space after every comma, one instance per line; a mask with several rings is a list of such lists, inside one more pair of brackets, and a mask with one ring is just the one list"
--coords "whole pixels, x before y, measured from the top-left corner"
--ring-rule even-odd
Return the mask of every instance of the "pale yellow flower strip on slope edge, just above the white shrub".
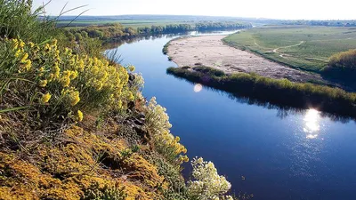
[[176, 161], [179, 164], [188, 162], [188, 156], [182, 155], [187, 153], [187, 149], [179, 143], [181, 139], [174, 137], [174, 135], [169, 132], [172, 124], [169, 123], [166, 108], [159, 106], [156, 98], [153, 97], [149, 102], [146, 112], [146, 125], [153, 135], [153, 140], [158, 152], [166, 156], [166, 158], [172, 162]]

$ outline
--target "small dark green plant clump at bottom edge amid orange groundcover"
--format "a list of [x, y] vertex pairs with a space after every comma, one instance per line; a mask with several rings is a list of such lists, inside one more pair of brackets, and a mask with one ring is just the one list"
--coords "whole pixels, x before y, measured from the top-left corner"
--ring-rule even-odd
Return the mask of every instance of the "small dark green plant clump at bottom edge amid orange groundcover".
[[104, 186], [99, 187], [99, 184], [93, 184], [85, 191], [83, 200], [125, 200], [127, 195], [125, 194], [125, 188], [116, 188]]

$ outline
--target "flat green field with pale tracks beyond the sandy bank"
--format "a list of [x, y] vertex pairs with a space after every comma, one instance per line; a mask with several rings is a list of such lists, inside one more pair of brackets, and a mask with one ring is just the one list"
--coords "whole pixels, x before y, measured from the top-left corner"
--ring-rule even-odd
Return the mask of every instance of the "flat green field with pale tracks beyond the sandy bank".
[[320, 72], [332, 54], [356, 48], [356, 28], [268, 26], [244, 30], [224, 42], [292, 68]]

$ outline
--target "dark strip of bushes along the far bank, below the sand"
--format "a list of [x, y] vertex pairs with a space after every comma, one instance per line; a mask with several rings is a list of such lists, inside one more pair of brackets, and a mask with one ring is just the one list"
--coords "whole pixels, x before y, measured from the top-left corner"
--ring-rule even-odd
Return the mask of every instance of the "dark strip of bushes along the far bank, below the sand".
[[318, 108], [322, 111], [356, 117], [356, 93], [317, 84], [292, 83], [255, 74], [225, 74], [207, 67], [168, 68], [168, 74], [191, 82], [205, 84], [227, 92], [296, 108]]

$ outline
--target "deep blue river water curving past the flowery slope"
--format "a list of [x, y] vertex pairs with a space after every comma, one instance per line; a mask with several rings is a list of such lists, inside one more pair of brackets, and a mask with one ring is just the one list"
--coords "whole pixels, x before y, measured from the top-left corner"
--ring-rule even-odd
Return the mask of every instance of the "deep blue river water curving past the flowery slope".
[[144, 96], [167, 108], [190, 158], [213, 161], [232, 192], [256, 200], [356, 199], [354, 121], [312, 108], [258, 106], [204, 87], [195, 92], [194, 84], [166, 75], [176, 66], [162, 53], [171, 39], [143, 39], [118, 51], [142, 73]]

